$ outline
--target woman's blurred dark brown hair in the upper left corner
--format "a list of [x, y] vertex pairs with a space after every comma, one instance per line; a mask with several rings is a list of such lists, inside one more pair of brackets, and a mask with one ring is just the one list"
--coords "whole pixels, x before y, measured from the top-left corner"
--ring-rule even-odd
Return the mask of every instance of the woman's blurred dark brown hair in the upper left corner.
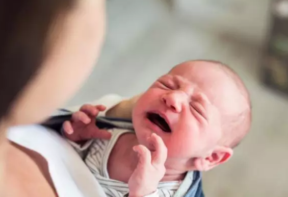
[[0, 0], [0, 119], [46, 55], [49, 30], [75, 0]]

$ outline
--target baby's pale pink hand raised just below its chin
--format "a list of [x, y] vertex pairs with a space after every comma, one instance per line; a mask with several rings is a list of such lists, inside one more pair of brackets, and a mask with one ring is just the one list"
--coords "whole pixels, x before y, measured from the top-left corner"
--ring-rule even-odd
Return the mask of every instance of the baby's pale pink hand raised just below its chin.
[[134, 146], [138, 153], [138, 165], [128, 181], [129, 197], [142, 197], [156, 191], [159, 182], [165, 175], [167, 147], [161, 137], [153, 133], [149, 139], [155, 147], [150, 152], [144, 145]]

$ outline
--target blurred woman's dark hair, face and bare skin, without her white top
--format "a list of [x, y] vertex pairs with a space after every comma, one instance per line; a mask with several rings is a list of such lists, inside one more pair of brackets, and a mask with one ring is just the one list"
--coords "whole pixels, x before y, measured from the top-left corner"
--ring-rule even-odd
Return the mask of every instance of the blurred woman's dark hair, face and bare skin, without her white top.
[[104, 0], [0, 0], [0, 196], [57, 196], [45, 159], [6, 131], [44, 120], [81, 87], [104, 14]]

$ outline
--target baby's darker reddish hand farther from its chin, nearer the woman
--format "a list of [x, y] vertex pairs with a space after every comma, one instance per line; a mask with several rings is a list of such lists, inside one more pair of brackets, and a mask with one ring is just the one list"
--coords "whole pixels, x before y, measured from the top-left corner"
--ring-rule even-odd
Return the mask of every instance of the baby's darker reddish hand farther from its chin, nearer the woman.
[[106, 109], [103, 105], [83, 105], [79, 111], [72, 114], [70, 121], [63, 124], [64, 135], [71, 141], [83, 141], [93, 138], [110, 139], [111, 133], [99, 129], [95, 125], [95, 118], [99, 111]]

